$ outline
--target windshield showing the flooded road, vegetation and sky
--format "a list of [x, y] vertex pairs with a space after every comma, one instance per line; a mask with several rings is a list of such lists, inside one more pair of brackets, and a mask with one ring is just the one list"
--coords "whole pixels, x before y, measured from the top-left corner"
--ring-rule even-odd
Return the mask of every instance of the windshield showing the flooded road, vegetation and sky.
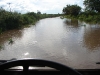
[[46, 59], [74, 69], [100, 68], [100, 11], [91, 2], [100, 4], [0, 0], [0, 60]]

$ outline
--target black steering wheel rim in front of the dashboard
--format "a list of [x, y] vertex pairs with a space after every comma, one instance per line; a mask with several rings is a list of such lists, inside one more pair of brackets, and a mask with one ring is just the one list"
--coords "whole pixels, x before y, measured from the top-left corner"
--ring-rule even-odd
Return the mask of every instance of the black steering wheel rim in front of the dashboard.
[[23, 66], [23, 71], [28, 71], [29, 66], [48, 66], [54, 68], [56, 70], [67, 72], [67, 73], [74, 73], [75, 75], [81, 75], [78, 71], [62, 65], [57, 62], [42, 60], [42, 59], [23, 59], [23, 60], [11, 60], [5, 63], [0, 64], [0, 71], [15, 67], [15, 66]]

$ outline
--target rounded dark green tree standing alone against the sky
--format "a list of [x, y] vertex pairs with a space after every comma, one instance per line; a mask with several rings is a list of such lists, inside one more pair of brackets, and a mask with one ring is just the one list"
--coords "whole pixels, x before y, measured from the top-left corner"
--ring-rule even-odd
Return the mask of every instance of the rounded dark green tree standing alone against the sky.
[[63, 13], [66, 15], [77, 16], [81, 12], [81, 7], [78, 5], [66, 5], [63, 8]]

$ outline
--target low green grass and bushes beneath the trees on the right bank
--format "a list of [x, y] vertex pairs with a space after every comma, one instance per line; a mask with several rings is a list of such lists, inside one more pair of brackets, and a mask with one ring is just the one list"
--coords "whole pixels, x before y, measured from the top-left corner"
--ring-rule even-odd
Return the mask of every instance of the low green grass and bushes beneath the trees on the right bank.
[[100, 13], [81, 13], [78, 16], [71, 16], [71, 15], [66, 15], [66, 18], [70, 19], [79, 19], [80, 21], [85, 21], [87, 23], [99, 23], [100, 24]]

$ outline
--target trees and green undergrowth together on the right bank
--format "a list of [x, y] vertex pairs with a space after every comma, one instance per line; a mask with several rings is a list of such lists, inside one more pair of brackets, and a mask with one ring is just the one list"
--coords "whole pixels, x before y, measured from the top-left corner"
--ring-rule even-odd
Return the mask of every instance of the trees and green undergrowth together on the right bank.
[[63, 8], [65, 17], [79, 19], [88, 23], [100, 24], [100, 0], [84, 0], [85, 10], [81, 11], [78, 5], [67, 5]]

